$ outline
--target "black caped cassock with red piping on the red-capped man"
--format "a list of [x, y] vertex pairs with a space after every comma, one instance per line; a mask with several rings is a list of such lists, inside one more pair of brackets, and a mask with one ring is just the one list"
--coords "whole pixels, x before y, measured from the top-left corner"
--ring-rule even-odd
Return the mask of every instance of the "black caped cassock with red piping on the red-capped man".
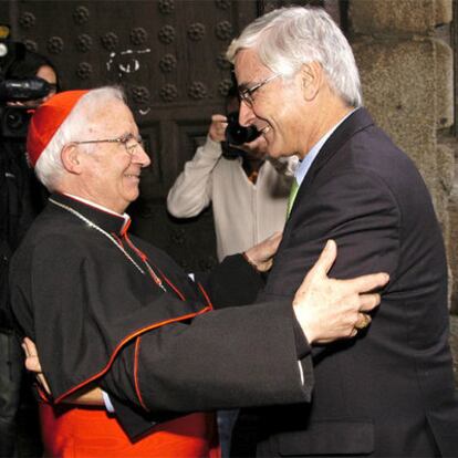
[[[159, 416], [310, 399], [291, 301], [231, 306], [252, 303], [262, 284], [241, 256], [204, 279], [207, 295], [127, 227], [55, 194], [13, 257], [13, 312], [56, 403], [91, 383]], [[221, 309], [210, 312], [209, 298]]]

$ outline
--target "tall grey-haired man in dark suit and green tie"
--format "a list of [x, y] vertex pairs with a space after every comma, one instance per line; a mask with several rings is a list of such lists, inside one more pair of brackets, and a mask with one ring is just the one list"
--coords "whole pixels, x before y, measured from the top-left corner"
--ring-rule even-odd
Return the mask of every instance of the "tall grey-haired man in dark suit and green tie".
[[323, 11], [289, 8], [229, 48], [240, 123], [273, 157], [298, 155], [299, 190], [262, 299], [291, 296], [327, 238], [332, 275], [391, 281], [354, 341], [314, 347], [312, 402], [259, 413], [259, 456], [458, 456], [439, 225], [412, 160], [362, 107], [358, 72]]

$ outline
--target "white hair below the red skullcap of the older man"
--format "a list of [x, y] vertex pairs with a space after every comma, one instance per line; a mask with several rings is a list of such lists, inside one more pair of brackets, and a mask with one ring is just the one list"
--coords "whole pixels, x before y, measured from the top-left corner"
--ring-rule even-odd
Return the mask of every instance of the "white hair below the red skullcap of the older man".
[[[87, 114], [113, 100], [125, 102], [124, 92], [121, 87], [104, 86], [95, 89], [87, 92], [87, 94], [84, 94], [77, 101], [37, 160], [37, 177], [48, 190], [55, 190], [59, 178], [64, 173], [64, 167], [61, 160], [62, 148], [69, 143], [86, 139], [84, 138], [84, 135], [87, 135], [87, 133], [91, 132], [95, 121], [89, 119]], [[93, 146], [82, 145], [82, 147], [86, 147], [87, 152], [90, 152]]]

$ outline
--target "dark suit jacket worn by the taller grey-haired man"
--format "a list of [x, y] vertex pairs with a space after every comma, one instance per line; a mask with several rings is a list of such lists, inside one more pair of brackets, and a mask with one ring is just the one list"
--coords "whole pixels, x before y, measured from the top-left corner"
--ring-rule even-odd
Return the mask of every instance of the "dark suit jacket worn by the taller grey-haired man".
[[312, 403], [261, 413], [258, 455], [458, 456], [440, 227], [418, 170], [364, 108], [302, 183], [262, 299], [292, 296], [330, 238], [331, 277], [391, 281], [367, 330], [315, 348]]

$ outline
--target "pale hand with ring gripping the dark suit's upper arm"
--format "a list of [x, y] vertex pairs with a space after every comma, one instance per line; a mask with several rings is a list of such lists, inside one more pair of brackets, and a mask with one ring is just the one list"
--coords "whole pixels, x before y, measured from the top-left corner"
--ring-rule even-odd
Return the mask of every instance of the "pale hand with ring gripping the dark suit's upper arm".
[[381, 302], [379, 294], [366, 292], [384, 287], [389, 280], [387, 273], [330, 279], [327, 272], [336, 254], [335, 242], [329, 240], [294, 296], [294, 313], [310, 344], [355, 336], [358, 329], [371, 322], [365, 312]]

